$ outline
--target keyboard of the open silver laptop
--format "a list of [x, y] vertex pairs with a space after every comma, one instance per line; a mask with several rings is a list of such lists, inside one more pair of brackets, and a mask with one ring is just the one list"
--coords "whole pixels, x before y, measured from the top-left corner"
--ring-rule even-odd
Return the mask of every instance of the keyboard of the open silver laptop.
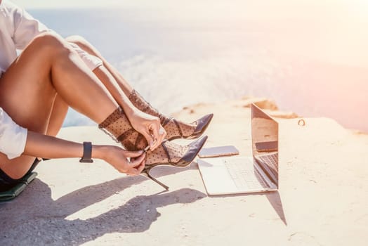
[[261, 189], [269, 187], [258, 171], [254, 169], [253, 162], [244, 159], [223, 160], [225, 167], [237, 188]]

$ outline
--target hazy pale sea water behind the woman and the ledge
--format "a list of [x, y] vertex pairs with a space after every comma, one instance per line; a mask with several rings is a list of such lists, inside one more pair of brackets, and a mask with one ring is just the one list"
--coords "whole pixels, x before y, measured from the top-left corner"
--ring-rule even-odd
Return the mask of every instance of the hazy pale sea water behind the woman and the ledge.
[[[193, 103], [259, 96], [281, 110], [368, 131], [366, 19], [349, 15], [336, 24], [337, 15], [324, 13], [283, 18], [266, 8], [208, 8], [29, 12], [63, 37], [88, 39], [166, 114]], [[84, 124], [93, 122], [70, 110], [64, 127]]]

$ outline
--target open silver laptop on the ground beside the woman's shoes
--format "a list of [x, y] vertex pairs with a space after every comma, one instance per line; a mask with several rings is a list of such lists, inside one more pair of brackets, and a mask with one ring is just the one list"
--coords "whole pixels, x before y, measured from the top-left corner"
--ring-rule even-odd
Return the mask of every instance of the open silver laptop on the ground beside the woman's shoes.
[[279, 186], [279, 127], [256, 105], [251, 105], [253, 156], [198, 159], [209, 195], [256, 193]]

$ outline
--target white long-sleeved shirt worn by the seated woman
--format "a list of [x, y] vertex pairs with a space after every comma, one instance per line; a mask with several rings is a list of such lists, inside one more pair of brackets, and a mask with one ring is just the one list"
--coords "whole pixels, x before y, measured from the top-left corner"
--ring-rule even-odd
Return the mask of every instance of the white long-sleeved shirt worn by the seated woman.
[[[22, 51], [41, 32], [53, 31], [10, 1], [1, 1], [0, 77], [18, 57], [17, 50]], [[70, 45], [91, 70], [103, 64], [99, 58], [89, 55], [76, 44]], [[27, 129], [18, 126], [0, 108], [0, 152], [6, 154], [9, 159], [18, 157], [23, 153], [26, 141]]]

